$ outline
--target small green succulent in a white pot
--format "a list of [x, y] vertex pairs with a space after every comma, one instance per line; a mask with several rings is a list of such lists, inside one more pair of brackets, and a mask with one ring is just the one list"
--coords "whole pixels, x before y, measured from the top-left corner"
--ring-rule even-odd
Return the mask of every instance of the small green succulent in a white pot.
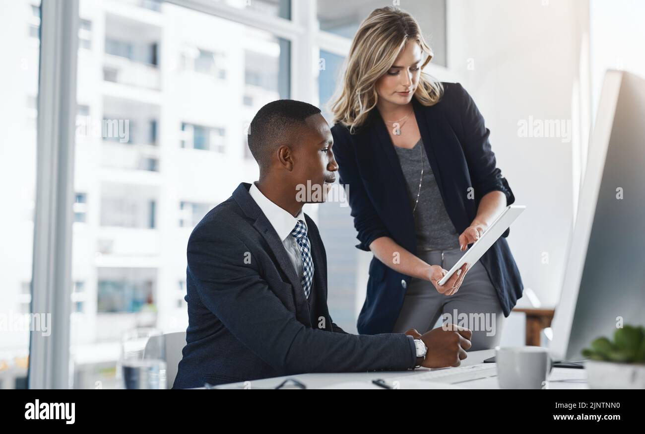
[[591, 389], [645, 389], [645, 327], [625, 325], [613, 342], [601, 337], [582, 350]]

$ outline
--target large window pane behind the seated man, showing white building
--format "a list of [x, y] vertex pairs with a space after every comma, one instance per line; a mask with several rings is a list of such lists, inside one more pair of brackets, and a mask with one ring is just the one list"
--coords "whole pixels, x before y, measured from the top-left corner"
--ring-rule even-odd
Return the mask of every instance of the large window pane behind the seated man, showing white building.
[[[92, 10], [85, 30], [93, 51], [88, 61], [79, 50], [86, 58], [78, 63], [78, 115], [117, 124], [75, 148], [74, 188], [84, 194], [75, 209], [88, 208], [74, 230], [74, 258], [83, 260], [73, 262], [72, 276], [84, 283], [72, 298], [70, 361], [75, 388], [94, 388], [96, 378], [108, 388], [114, 374], [101, 372], [114, 372], [119, 354], [88, 362], [97, 348], [118, 347], [132, 327], [186, 328], [190, 228], [239, 181], [257, 178], [257, 165], [244, 158], [241, 119], [290, 98], [294, 36], [170, 2], [119, 0], [123, 16], [116, 0], [79, 1], [81, 11]], [[215, 3], [292, 25], [289, 1], [204, 4]], [[169, 316], [181, 318], [174, 329]]]

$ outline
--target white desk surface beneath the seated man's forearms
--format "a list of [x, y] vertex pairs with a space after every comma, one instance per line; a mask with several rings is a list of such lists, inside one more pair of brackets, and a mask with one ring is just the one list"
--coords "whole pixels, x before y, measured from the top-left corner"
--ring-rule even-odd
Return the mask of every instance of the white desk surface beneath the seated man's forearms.
[[[468, 353], [466, 360], [462, 360], [462, 366], [470, 366], [482, 363], [484, 359], [495, 355], [494, 349], [484, 349], [482, 351], [471, 351]], [[372, 386], [370, 388], [382, 389], [382, 387], [374, 386], [370, 382], [376, 378], [383, 378], [387, 380], [393, 377], [402, 377], [414, 375], [426, 368], [419, 368], [409, 371], [379, 371], [379, 372], [347, 372], [347, 373], [315, 373], [315, 374], [301, 374], [301, 375], [287, 375], [285, 377], [264, 378], [262, 380], [253, 380], [250, 382], [250, 388], [257, 387], [258, 389], [273, 388], [281, 384], [286, 378], [294, 378], [307, 386], [308, 389], [321, 389], [322, 387], [331, 386], [342, 382], [365, 382]], [[562, 367], [554, 368], [549, 377], [549, 389], [588, 389], [587, 375], [585, 369], [566, 369]], [[499, 389], [497, 384], [497, 377], [482, 378], [480, 380], [473, 380], [469, 382], [459, 383], [460, 387], [466, 389]], [[243, 382], [229, 383], [217, 386], [218, 389], [241, 389], [244, 387]], [[203, 387], [201, 387], [203, 388]], [[292, 388], [292, 387], [288, 387]]]

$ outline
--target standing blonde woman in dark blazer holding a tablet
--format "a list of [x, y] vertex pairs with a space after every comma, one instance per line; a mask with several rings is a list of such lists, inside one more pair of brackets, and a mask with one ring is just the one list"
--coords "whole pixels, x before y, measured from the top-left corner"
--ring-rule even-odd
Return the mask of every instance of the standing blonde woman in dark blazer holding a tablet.
[[488, 349], [522, 295], [508, 230], [470, 269], [438, 281], [515, 197], [475, 103], [459, 83], [422, 73], [430, 59], [412, 16], [374, 10], [332, 104], [332, 149], [357, 247], [374, 254], [357, 327], [425, 333], [442, 318], [473, 330], [471, 349]]

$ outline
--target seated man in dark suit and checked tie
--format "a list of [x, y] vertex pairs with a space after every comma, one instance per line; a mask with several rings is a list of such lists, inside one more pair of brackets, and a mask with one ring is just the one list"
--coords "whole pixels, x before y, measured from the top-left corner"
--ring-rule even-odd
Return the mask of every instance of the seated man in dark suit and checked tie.
[[[321, 110], [289, 99], [268, 103], [251, 122], [248, 145], [259, 181], [241, 183], [188, 240], [188, 329], [174, 388], [458, 366], [470, 348], [468, 329], [352, 335], [332, 322], [324, 245], [303, 213], [304, 199], [324, 200], [315, 191], [328, 191], [338, 169]], [[311, 194], [299, 194], [303, 186]]]

